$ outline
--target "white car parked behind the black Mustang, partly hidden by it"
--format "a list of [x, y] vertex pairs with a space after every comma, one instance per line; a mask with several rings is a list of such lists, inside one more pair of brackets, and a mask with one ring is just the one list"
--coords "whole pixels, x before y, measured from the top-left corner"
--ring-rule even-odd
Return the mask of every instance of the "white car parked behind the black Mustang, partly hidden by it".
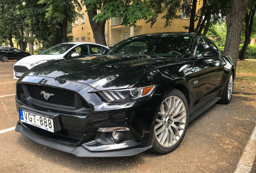
[[47, 62], [48, 60], [71, 56], [101, 54], [105, 49], [109, 49], [109, 47], [90, 42], [67, 42], [57, 44], [38, 54], [27, 56], [16, 62], [13, 66], [13, 78], [19, 79], [27, 70], [38, 64]]

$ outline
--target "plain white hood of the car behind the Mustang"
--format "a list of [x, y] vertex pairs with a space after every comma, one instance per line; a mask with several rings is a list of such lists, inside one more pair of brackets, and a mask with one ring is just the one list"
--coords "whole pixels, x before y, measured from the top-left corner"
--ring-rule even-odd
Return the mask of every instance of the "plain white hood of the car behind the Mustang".
[[62, 58], [64, 54], [57, 54], [57, 55], [41, 55], [41, 54], [35, 54], [31, 56], [27, 56], [25, 58], [22, 58], [16, 64], [19, 63], [25, 63], [25, 64], [33, 64], [35, 62], [39, 62], [42, 60], [54, 60], [56, 58]]

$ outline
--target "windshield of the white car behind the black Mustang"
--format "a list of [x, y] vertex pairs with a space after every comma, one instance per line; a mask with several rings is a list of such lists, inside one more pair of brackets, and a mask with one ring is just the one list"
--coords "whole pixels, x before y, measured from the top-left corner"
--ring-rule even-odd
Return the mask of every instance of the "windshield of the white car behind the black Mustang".
[[46, 50], [43, 50], [39, 54], [63, 54], [74, 45], [75, 44], [58, 44], [56, 46], [52, 46], [50, 48], [47, 48]]

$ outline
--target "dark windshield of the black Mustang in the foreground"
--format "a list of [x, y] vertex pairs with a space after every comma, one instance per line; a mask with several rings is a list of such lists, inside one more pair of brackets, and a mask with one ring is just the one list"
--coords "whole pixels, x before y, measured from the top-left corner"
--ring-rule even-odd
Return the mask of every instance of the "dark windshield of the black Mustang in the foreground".
[[123, 40], [106, 54], [147, 54], [182, 57], [189, 53], [194, 37], [182, 34], [153, 34]]

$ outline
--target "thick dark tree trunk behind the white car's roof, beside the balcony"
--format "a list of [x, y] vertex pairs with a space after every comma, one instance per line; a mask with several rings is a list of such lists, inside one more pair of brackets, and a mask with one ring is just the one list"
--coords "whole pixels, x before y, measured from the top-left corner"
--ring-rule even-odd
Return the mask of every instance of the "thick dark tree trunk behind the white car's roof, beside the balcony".
[[[90, 5], [86, 5], [86, 8], [88, 9]], [[88, 14], [88, 18], [89, 18], [89, 22], [91, 25], [91, 29], [93, 30], [93, 36], [95, 39], [95, 42], [98, 44], [102, 44], [107, 46], [106, 44], [106, 39], [105, 39], [105, 24], [106, 21], [101, 22], [95, 22], [93, 21], [94, 16], [97, 15], [97, 11], [93, 10], [93, 11], [87, 11]]]

